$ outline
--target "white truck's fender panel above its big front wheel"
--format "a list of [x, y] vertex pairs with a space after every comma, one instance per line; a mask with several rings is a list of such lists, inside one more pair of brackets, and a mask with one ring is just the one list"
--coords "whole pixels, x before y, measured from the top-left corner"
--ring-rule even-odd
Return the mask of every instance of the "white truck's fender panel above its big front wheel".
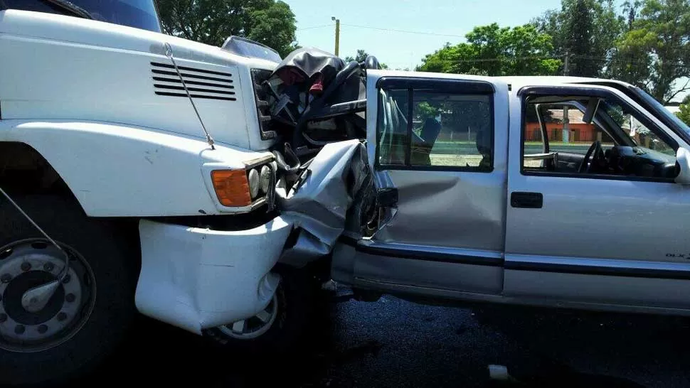
[[65, 180], [87, 215], [157, 217], [247, 211], [218, 202], [213, 168], [270, 158], [171, 132], [102, 122], [0, 121], [0, 141], [32, 146]]

